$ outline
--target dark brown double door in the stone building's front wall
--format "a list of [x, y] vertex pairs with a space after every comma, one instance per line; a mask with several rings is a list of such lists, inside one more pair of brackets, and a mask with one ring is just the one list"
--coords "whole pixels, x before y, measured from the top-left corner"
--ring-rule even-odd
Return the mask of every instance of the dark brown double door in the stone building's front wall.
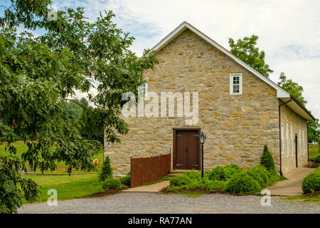
[[198, 130], [176, 130], [176, 169], [198, 170]]

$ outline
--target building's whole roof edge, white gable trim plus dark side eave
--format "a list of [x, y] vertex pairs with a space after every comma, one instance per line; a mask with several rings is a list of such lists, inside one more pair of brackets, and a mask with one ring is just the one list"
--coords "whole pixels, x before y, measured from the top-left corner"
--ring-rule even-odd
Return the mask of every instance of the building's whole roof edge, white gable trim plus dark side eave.
[[[191, 26], [191, 24], [188, 24], [188, 22], [183, 21], [178, 27], [176, 27], [174, 29], [174, 31], [171, 31], [171, 33], [169, 33], [168, 36], [166, 36], [165, 38], [163, 38], [159, 43], [156, 44], [156, 46], [154, 46], [151, 51], [160, 51], [161, 48], [163, 48], [164, 46], [166, 46], [168, 43], [170, 43], [172, 40], [174, 40], [174, 38], [176, 38], [178, 35], [180, 35], [183, 31], [185, 31], [186, 29], [190, 29], [191, 31], [193, 31], [194, 33], [196, 33], [198, 36], [200, 36], [201, 38], [203, 38], [205, 41], [207, 41], [208, 43], [210, 43], [212, 46], [214, 46], [215, 48], [217, 48], [219, 51], [221, 51], [222, 53], [225, 53], [226, 56], [229, 56], [230, 58], [232, 58], [236, 63], [239, 63], [241, 66], [243, 66], [244, 68], [247, 69], [247, 71], [250, 71], [251, 73], [253, 73], [255, 76], [257, 76], [258, 78], [260, 78], [262, 81], [264, 81], [265, 83], [267, 83], [269, 86], [271, 86], [272, 88], [274, 88], [275, 90], [277, 90], [277, 98], [280, 98], [282, 101], [287, 101], [290, 100], [292, 98], [292, 94], [288, 93], [286, 90], [284, 90], [283, 88], [281, 88], [280, 86], [277, 85], [277, 83], [274, 83], [273, 81], [271, 81], [269, 78], [266, 78], [265, 76], [263, 76], [261, 73], [259, 73], [258, 71], [256, 71], [254, 68], [252, 68], [251, 66], [247, 65], [247, 63], [241, 61], [239, 58], [235, 57], [233, 55], [233, 53], [230, 53], [230, 51], [228, 51], [227, 49], [223, 48], [223, 46], [220, 46], [218, 43], [216, 43], [215, 41], [213, 41], [213, 39], [209, 38], [208, 36], [206, 36], [205, 34], [203, 34], [201, 31], [199, 31], [197, 28]], [[297, 98], [293, 99], [296, 103], [297, 103]], [[289, 103], [288, 103], [289, 104]], [[290, 107], [292, 108], [292, 107]], [[311, 115], [311, 113], [309, 113], [308, 110], [306, 110], [306, 108], [301, 105], [301, 103], [298, 103], [298, 105], [294, 105], [294, 111], [296, 113], [298, 113], [299, 115], [302, 115], [301, 113], [303, 113], [304, 115], [302, 115], [303, 118], [305, 118], [306, 120], [314, 120], [314, 116]], [[307, 115], [305, 115], [307, 114]]]

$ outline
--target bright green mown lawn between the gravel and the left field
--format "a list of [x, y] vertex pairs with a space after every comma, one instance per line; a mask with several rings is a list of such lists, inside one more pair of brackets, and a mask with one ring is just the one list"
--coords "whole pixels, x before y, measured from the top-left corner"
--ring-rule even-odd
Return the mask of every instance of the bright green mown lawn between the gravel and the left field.
[[58, 200], [83, 198], [97, 192], [103, 192], [102, 182], [98, 182], [97, 174], [87, 175], [23, 175], [31, 178], [41, 186], [41, 193], [37, 202], [48, 200], [48, 190], [55, 189], [58, 193]]

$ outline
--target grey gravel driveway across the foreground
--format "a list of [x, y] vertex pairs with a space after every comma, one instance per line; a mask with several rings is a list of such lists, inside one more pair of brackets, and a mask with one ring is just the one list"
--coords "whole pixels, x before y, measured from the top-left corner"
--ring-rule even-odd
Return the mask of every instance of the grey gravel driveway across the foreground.
[[24, 204], [19, 213], [317, 213], [320, 206], [300, 200], [271, 197], [271, 206], [262, 207], [261, 197], [220, 194], [187, 197], [176, 194], [123, 192], [90, 199], [73, 199], [49, 207], [46, 203]]

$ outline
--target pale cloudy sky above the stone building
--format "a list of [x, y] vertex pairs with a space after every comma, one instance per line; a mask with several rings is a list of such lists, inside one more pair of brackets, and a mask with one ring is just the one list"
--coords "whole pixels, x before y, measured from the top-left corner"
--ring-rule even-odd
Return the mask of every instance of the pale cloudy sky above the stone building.
[[[6, 0], [8, 1], [8, 0]], [[113, 21], [136, 39], [140, 56], [183, 21], [230, 50], [229, 38], [259, 36], [257, 46], [274, 71], [270, 79], [287, 78], [304, 88], [306, 108], [320, 118], [320, 1], [319, 0], [52, 0], [58, 10], [82, 6], [94, 21], [112, 10]]]

